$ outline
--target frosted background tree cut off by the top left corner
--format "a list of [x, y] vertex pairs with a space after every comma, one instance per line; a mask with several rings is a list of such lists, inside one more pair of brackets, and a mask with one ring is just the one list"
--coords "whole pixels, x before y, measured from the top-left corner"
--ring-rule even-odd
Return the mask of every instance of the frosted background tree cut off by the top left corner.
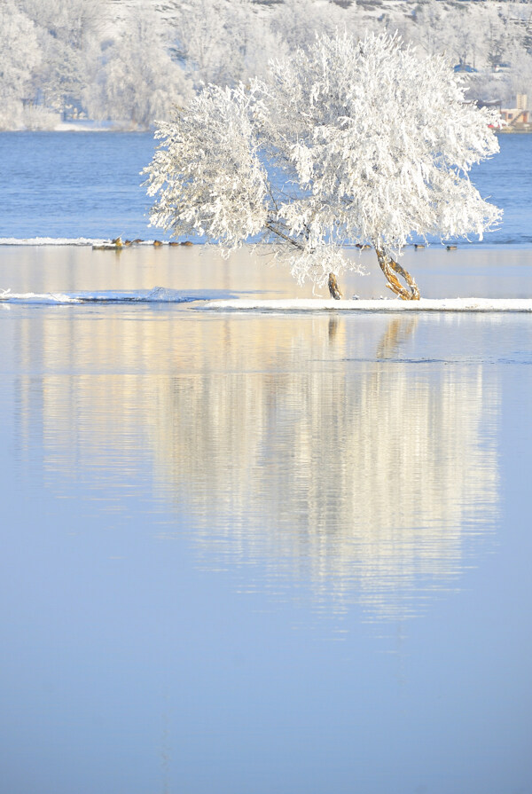
[[0, 4], [0, 130], [21, 123], [22, 100], [27, 98], [32, 69], [41, 51], [35, 26], [13, 0]]

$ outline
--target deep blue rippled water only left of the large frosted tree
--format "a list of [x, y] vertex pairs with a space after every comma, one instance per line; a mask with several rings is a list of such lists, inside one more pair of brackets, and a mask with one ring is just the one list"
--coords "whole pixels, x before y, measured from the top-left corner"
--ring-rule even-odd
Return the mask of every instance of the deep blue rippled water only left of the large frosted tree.
[[151, 134], [0, 134], [0, 237], [157, 236], [140, 171]]

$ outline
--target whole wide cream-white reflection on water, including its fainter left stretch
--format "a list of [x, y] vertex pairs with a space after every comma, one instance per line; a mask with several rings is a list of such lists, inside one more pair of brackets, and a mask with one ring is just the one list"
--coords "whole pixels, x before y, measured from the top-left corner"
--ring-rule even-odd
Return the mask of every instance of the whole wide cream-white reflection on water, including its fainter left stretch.
[[330, 609], [407, 617], [457, 587], [466, 539], [497, 515], [481, 362], [401, 358], [416, 318], [192, 315], [74, 315], [66, 335], [43, 314], [46, 468], [99, 472], [122, 499], [154, 472], [202, 562], [256, 563]]

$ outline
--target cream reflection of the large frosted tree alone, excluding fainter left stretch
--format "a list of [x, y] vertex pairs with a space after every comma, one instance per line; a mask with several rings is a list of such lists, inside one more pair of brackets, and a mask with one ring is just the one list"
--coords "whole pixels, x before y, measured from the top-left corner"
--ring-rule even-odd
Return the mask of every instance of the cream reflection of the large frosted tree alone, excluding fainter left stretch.
[[[262, 322], [251, 371], [179, 375], [160, 406], [162, 478], [199, 517], [199, 537], [357, 591], [380, 614], [406, 609], [398, 594], [421, 581], [449, 586], [465, 531], [497, 504], [496, 452], [481, 433], [497, 394], [482, 366], [397, 361], [416, 318], [389, 320], [377, 360], [341, 366], [342, 318], [307, 334], [286, 318]], [[261, 367], [265, 348], [276, 371]]]

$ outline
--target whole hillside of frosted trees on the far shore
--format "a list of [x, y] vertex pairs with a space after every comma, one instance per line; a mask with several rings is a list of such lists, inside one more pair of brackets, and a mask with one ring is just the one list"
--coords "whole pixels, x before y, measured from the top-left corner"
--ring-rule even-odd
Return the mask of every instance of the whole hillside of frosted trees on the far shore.
[[444, 53], [481, 103], [532, 95], [531, 0], [3, 0], [0, 130], [148, 129], [336, 30]]

